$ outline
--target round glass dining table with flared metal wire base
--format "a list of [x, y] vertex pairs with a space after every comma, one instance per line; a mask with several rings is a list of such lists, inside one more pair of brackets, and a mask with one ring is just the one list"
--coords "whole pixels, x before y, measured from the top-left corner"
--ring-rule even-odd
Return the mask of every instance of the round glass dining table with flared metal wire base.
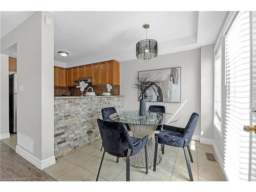
[[[143, 138], [148, 136], [147, 154], [148, 166], [152, 167], [154, 163], [155, 139], [154, 133], [158, 126], [173, 123], [178, 118], [171, 113], [150, 112], [146, 116], [140, 116], [139, 111], [120, 111], [110, 115], [113, 121], [129, 124], [134, 137]], [[162, 160], [162, 155], [157, 153], [157, 164]], [[145, 151], [144, 148], [136, 155], [130, 158], [131, 166], [145, 168]]]

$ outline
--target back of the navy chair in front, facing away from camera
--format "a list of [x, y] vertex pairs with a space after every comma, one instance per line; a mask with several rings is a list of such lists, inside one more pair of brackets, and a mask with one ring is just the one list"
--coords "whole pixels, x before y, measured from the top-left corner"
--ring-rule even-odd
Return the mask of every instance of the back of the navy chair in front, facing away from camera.
[[[116, 157], [126, 157], [133, 142], [124, 123], [97, 119], [105, 152]], [[133, 152], [132, 152], [133, 153]]]

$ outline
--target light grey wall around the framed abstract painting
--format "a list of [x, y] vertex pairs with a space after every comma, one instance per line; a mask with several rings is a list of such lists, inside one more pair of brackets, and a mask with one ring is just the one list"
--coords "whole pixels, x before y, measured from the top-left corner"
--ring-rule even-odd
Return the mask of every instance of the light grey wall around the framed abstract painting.
[[[147, 102], [164, 105], [166, 112], [177, 113], [181, 118], [175, 125], [185, 126], [193, 112], [200, 115], [200, 49], [160, 55], [152, 65], [142, 66], [139, 61], [129, 60], [120, 62], [120, 94], [124, 95], [124, 110], [138, 110], [138, 91], [132, 89], [138, 71], [181, 67], [181, 103]], [[201, 116], [200, 116], [201, 119]], [[200, 136], [200, 119], [194, 136]]]

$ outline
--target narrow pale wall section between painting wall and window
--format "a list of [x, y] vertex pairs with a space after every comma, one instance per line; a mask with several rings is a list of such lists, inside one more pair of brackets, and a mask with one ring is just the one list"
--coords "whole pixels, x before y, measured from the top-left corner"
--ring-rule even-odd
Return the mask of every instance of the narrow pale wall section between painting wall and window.
[[214, 139], [214, 45], [201, 47], [201, 138]]

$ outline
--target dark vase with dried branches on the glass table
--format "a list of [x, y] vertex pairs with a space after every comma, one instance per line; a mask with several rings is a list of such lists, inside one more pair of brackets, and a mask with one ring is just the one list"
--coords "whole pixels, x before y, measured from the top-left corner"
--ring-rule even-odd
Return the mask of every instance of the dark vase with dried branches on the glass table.
[[147, 76], [139, 76], [137, 77], [137, 81], [134, 82], [133, 88], [139, 91], [139, 99], [140, 99], [140, 116], [146, 116], [146, 99], [145, 93], [147, 90], [154, 89], [160, 83], [160, 79], [151, 79]]

